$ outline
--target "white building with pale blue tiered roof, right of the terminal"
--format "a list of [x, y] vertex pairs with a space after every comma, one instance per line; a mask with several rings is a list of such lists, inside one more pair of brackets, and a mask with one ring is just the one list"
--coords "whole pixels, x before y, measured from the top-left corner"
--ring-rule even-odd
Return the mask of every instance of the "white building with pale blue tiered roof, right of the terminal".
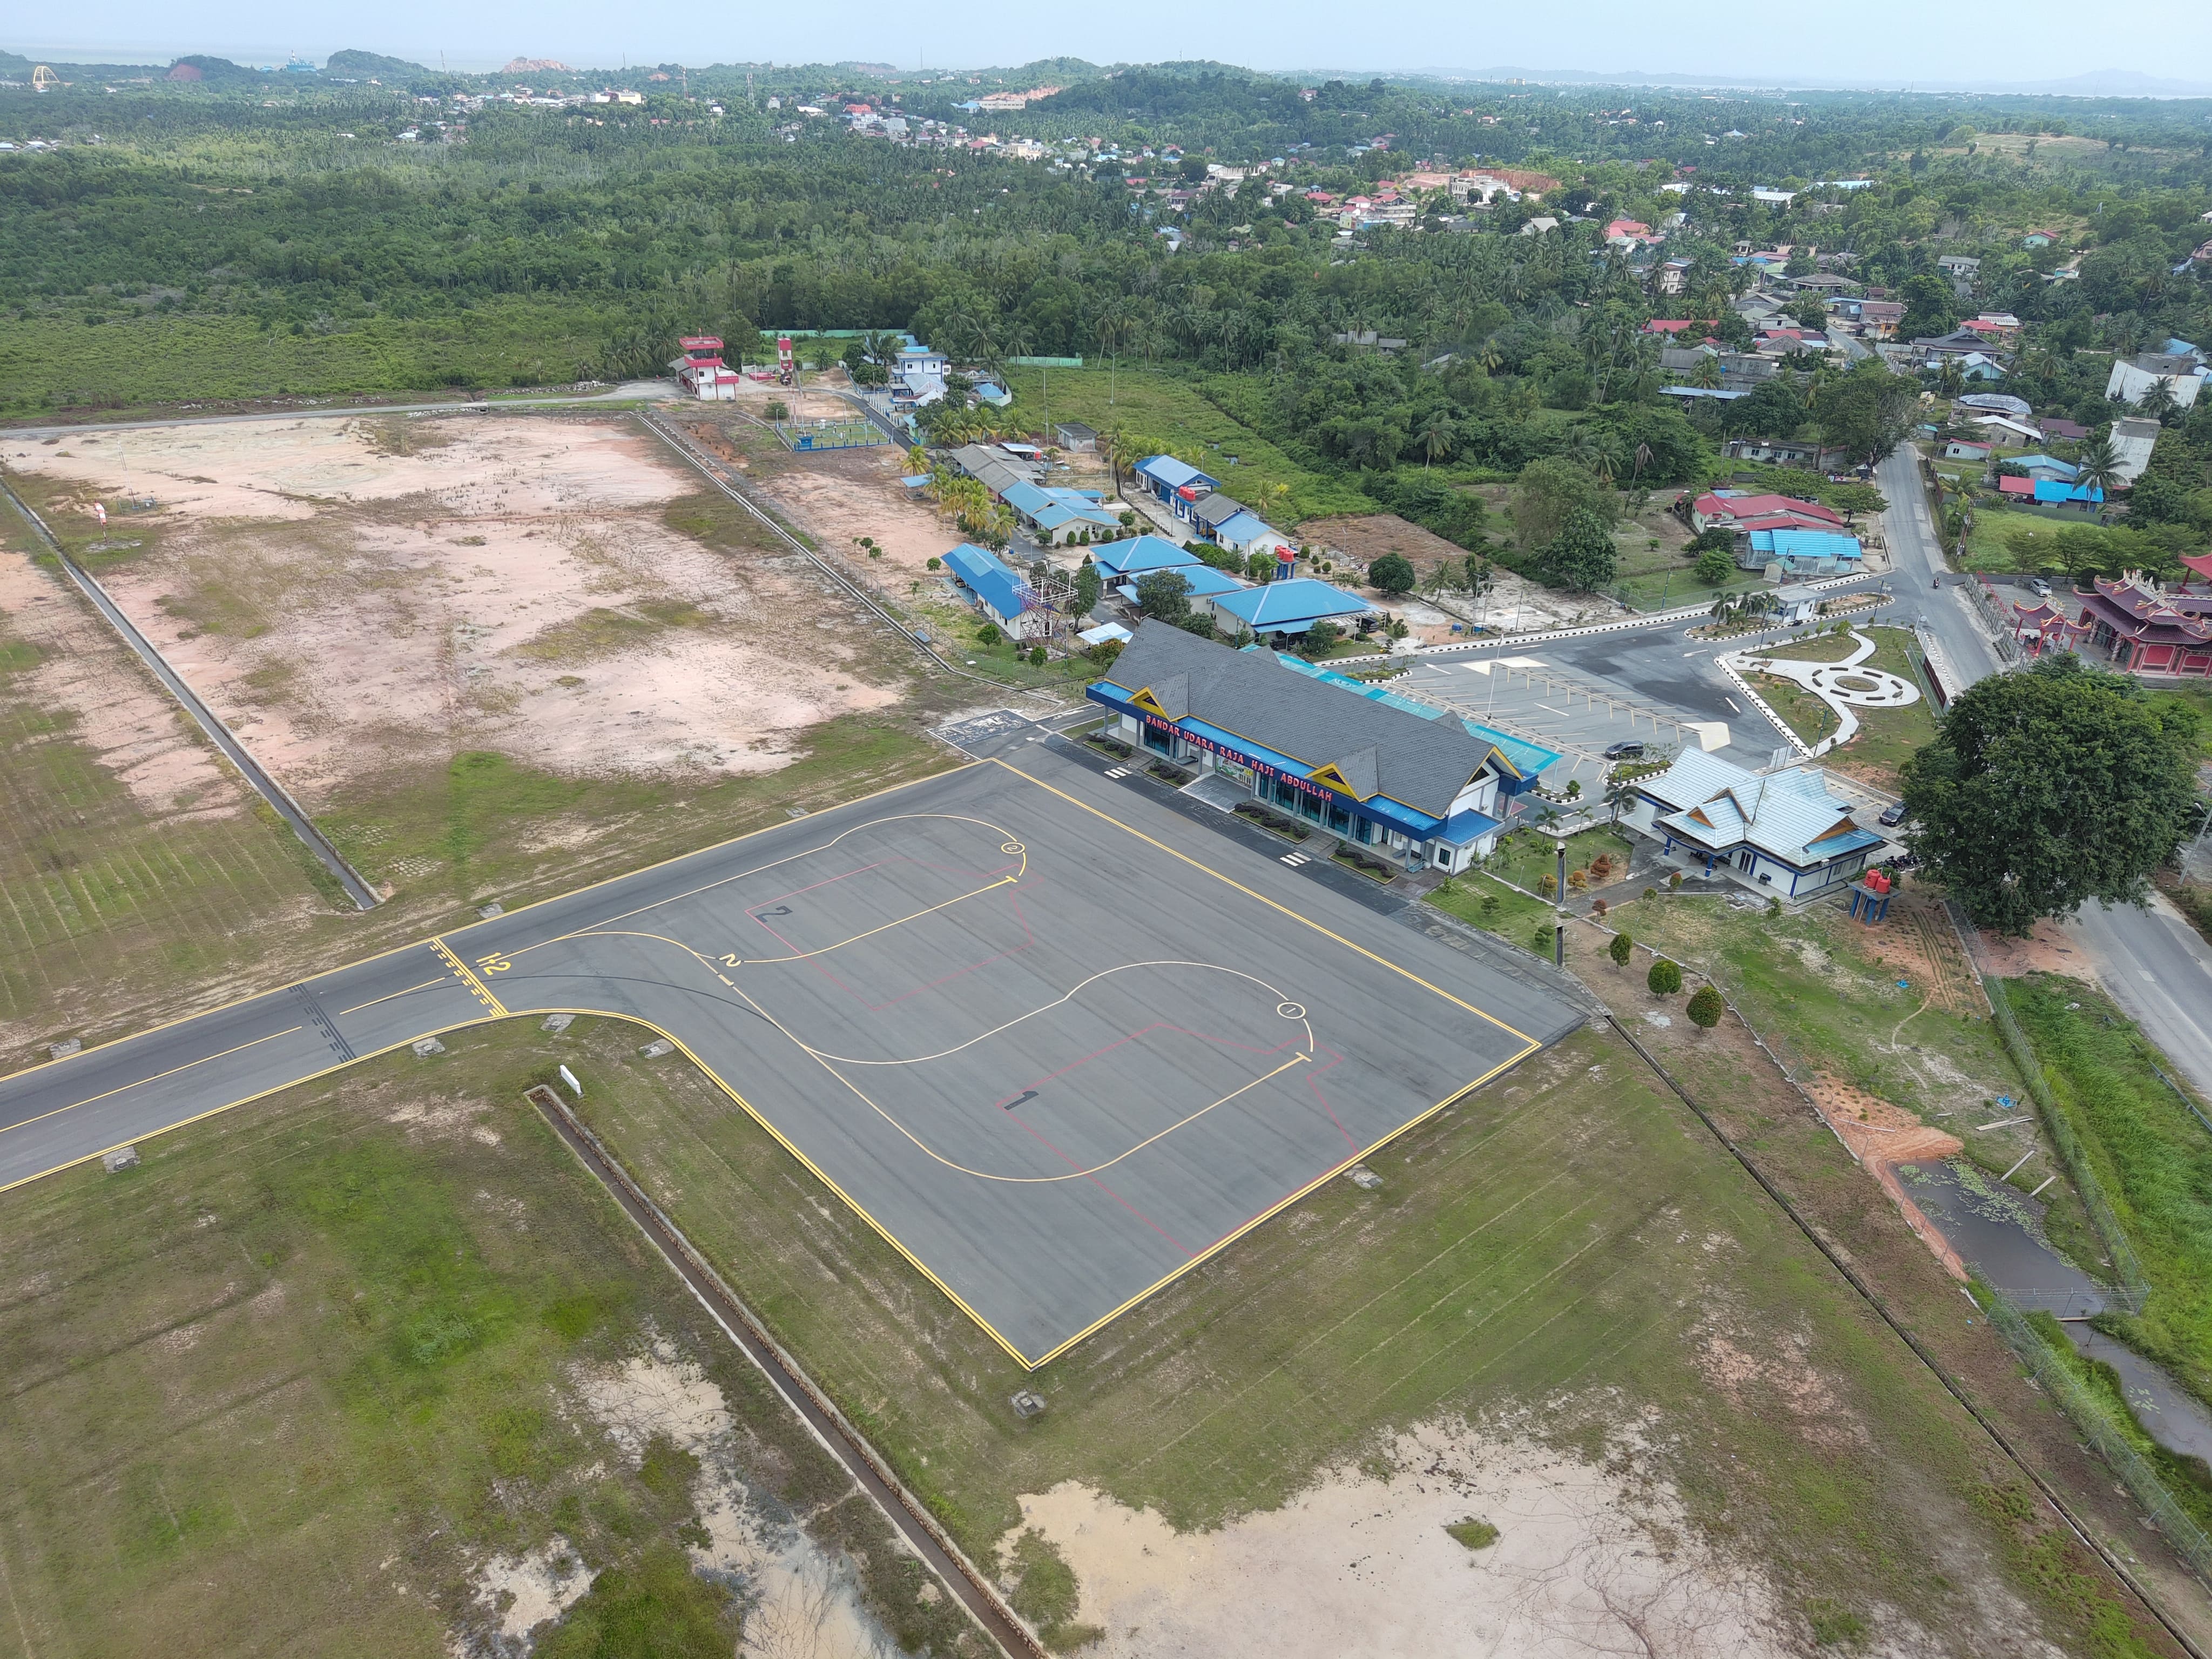
[[1630, 790], [1624, 825], [1708, 876], [1785, 902], [1840, 891], [1891, 854], [1889, 838], [1863, 825], [1816, 765], [1747, 772], [1688, 750]]

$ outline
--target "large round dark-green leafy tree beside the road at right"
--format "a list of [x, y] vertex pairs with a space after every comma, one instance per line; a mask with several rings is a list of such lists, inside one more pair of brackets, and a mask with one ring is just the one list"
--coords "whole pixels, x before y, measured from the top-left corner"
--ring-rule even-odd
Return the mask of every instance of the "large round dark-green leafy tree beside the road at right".
[[2090, 898], [2139, 902], [2192, 818], [2192, 750], [2188, 710], [2077, 657], [1993, 675], [1905, 765], [1913, 852], [2000, 933]]

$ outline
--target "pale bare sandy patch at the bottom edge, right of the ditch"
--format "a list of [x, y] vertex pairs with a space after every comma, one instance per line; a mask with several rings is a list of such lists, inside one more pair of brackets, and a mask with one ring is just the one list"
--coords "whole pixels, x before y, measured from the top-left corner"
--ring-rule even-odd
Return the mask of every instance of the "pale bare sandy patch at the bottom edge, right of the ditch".
[[[1394, 1464], [1214, 1533], [1073, 1482], [1022, 1498], [1022, 1522], [1075, 1568], [1099, 1659], [1798, 1652], [1772, 1586], [1697, 1544], [1663, 1486], [1464, 1425], [1407, 1433]], [[1444, 1531], [1469, 1517], [1498, 1542]]]

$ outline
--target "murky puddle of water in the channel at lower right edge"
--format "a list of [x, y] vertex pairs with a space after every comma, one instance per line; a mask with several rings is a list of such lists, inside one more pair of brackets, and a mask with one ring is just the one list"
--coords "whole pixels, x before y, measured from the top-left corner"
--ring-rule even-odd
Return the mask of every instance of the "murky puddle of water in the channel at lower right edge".
[[2132, 1347], [2088, 1327], [2088, 1316], [2104, 1312], [2104, 1294], [2044, 1241], [2044, 1206], [1980, 1170], [1962, 1175], [1955, 1164], [1900, 1164], [1898, 1170], [1960, 1259], [2020, 1307], [2044, 1307], [2066, 1321], [2066, 1336], [2081, 1354], [2119, 1371], [2128, 1405], [2152, 1440], [2212, 1462], [2212, 1411]]

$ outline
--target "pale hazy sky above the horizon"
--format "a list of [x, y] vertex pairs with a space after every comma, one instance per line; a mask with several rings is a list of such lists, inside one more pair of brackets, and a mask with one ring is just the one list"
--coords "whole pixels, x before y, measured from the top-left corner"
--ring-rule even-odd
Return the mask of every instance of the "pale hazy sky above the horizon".
[[916, 66], [1217, 58], [1250, 69], [1584, 69], [1712, 73], [1805, 82], [2059, 80], [2099, 69], [2212, 80], [2205, 0], [2015, 0], [1931, 7], [1858, 0], [1845, 7], [1710, 9], [1648, 0], [1467, 4], [1400, 0], [1385, 9], [1321, 0], [1115, 0], [1113, 4], [956, 7], [838, 4], [703, 7], [675, 0], [91, 0], [15, 11], [0, 46], [51, 58], [166, 60], [188, 51], [283, 62], [341, 46], [456, 69], [513, 55], [577, 66], [628, 62], [896, 62]]

